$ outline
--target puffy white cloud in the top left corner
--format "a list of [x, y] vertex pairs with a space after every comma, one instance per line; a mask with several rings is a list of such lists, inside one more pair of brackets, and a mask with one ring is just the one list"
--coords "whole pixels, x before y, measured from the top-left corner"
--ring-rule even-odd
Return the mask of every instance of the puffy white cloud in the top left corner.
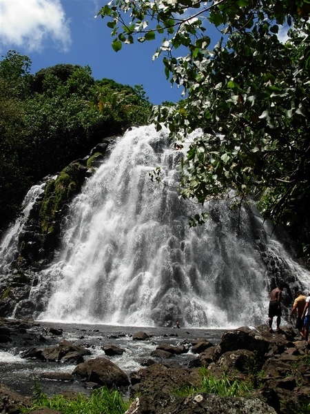
[[71, 43], [69, 21], [60, 0], [0, 0], [2, 46], [41, 50], [48, 39], [63, 51]]

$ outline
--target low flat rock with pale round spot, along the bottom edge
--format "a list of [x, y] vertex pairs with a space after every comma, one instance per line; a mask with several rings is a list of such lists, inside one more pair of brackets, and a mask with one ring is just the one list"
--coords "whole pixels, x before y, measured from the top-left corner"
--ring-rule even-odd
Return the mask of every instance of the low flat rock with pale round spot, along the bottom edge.
[[276, 414], [276, 411], [258, 398], [220, 397], [214, 394], [196, 394], [178, 397], [158, 391], [141, 395], [131, 404], [126, 414]]

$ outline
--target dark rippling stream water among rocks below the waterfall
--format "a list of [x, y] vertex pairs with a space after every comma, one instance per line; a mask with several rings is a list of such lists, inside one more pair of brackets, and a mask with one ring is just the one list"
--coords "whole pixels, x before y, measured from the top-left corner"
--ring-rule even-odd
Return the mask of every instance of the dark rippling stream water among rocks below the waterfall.
[[[85, 357], [85, 360], [94, 357], [106, 357], [129, 374], [141, 368], [143, 359], [150, 358], [150, 353], [159, 344], [178, 345], [185, 341], [189, 343], [203, 337], [210, 342], [218, 343], [223, 329], [201, 329], [201, 328], [156, 328], [137, 326], [109, 326], [109, 325], [83, 325], [83, 324], [55, 324], [39, 322], [40, 326], [34, 335], [25, 338], [23, 344], [13, 340], [12, 345], [0, 348], [0, 382], [10, 386], [23, 395], [32, 395], [34, 391], [34, 377], [43, 372], [72, 373], [76, 365], [60, 364], [55, 362], [42, 362], [39, 359], [23, 359], [19, 355], [30, 348], [48, 348], [61, 342], [61, 339], [68, 339], [76, 345], [85, 346], [90, 349], [92, 355]], [[52, 336], [49, 328], [63, 328], [63, 335]], [[149, 335], [147, 341], [134, 341], [132, 334], [143, 331]], [[47, 342], [40, 342], [39, 336], [43, 335]], [[13, 338], [14, 339], [14, 338]], [[109, 344], [124, 348], [121, 356], [107, 357], [103, 348]], [[190, 350], [189, 353], [178, 355], [165, 362], [178, 362], [187, 366], [190, 359], [196, 358]], [[158, 361], [159, 362], [159, 361]], [[41, 390], [48, 396], [62, 393], [65, 390], [80, 393], [89, 393], [80, 382], [57, 381], [40, 379]]]

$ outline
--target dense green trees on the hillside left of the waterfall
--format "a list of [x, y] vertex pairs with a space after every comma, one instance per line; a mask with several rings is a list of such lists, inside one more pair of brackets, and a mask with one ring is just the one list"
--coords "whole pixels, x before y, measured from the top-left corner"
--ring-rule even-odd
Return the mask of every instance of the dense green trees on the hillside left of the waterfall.
[[30, 186], [104, 137], [146, 124], [151, 109], [142, 86], [94, 80], [88, 66], [30, 69], [30, 59], [14, 50], [0, 61], [0, 233]]

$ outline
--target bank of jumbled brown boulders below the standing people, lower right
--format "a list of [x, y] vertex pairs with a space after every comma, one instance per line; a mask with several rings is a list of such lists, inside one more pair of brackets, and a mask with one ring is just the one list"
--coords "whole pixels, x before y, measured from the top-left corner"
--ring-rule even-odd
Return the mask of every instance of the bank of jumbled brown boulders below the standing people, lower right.
[[[192, 344], [200, 343], [203, 341]], [[196, 350], [198, 357], [191, 359], [190, 368], [176, 366], [167, 359], [164, 362], [162, 358], [161, 364], [131, 373], [130, 394], [138, 398], [127, 414], [292, 414], [310, 403], [310, 345], [296, 340], [290, 326], [276, 333], [269, 333], [266, 324], [256, 328], [245, 326], [226, 331], [217, 345], [205, 345], [205, 351]], [[159, 351], [167, 353], [160, 349], [154, 352]], [[199, 389], [202, 375], [215, 380], [225, 377], [231, 384], [235, 380], [245, 382], [248, 395], [195, 396], [189, 392], [187, 397], [177, 396], [182, 388]]]

